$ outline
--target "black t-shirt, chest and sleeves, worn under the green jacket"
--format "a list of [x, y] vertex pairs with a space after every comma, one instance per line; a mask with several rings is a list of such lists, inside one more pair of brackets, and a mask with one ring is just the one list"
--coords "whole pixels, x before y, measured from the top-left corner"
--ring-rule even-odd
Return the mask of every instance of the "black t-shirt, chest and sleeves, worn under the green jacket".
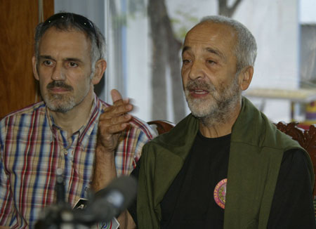
[[[213, 191], [227, 178], [230, 135], [205, 138], [197, 134], [182, 169], [160, 204], [160, 228], [223, 228], [224, 209]], [[268, 228], [316, 228], [310, 177], [304, 152], [284, 152]], [[139, 166], [132, 176], [138, 178]], [[129, 212], [137, 224], [136, 202]]]

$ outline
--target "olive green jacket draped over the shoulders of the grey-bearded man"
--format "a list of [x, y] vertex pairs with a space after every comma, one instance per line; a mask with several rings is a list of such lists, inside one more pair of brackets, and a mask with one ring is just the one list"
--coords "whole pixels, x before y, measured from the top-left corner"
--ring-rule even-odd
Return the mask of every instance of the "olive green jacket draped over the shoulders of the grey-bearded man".
[[[198, 119], [190, 114], [169, 133], [144, 146], [138, 177], [138, 228], [159, 228], [160, 202], [182, 168], [198, 130]], [[267, 227], [283, 152], [294, 148], [303, 150], [243, 98], [230, 141], [225, 229]], [[307, 152], [305, 155], [310, 162]], [[311, 162], [309, 169], [313, 187]]]

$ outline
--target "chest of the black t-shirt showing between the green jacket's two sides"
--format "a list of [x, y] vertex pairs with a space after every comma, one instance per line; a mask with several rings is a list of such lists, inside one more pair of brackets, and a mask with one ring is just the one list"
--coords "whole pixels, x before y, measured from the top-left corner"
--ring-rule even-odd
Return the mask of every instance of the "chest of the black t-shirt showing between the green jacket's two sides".
[[197, 134], [182, 169], [164, 195], [161, 228], [223, 228], [224, 209], [213, 198], [227, 178], [230, 135]]

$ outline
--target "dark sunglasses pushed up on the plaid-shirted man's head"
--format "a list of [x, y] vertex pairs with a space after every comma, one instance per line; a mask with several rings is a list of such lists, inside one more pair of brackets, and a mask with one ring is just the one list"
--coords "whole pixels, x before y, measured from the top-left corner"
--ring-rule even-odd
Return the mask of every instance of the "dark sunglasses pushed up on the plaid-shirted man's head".
[[99, 40], [98, 40], [98, 34], [96, 32], [96, 28], [93, 26], [93, 23], [91, 22], [91, 20], [88, 20], [88, 18], [82, 15], [79, 15], [76, 13], [56, 13], [52, 15], [50, 18], [47, 18], [43, 22], [43, 27], [49, 25], [51, 22], [55, 20], [62, 20], [63, 18], [65, 19], [70, 18], [70, 20], [72, 20], [73, 22], [78, 23], [82, 27], [85, 27], [88, 31], [92, 32], [93, 35], [96, 37], [97, 45], [99, 46]]

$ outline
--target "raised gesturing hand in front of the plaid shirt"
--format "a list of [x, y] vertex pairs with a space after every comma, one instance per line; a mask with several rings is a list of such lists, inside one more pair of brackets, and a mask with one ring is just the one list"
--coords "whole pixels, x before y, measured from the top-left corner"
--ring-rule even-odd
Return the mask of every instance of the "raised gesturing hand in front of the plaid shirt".
[[98, 145], [103, 146], [106, 152], [113, 152], [117, 148], [117, 141], [124, 131], [129, 126], [133, 105], [129, 100], [123, 100], [119, 91], [113, 89], [111, 91], [113, 105], [107, 107], [105, 112], [100, 115], [98, 124]]

